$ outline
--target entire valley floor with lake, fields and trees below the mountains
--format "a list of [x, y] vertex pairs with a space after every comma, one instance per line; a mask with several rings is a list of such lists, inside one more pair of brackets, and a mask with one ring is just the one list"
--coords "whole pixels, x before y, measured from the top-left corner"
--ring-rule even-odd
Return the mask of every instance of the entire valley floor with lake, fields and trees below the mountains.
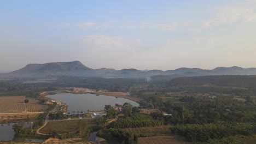
[[[26, 69], [22, 73], [29, 74]], [[17, 142], [21, 137], [56, 143], [88, 143], [88, 137], [104, 143], [255, 141], [255, 76], [166, 76], [152, 76], [150, 81], [129, 76], [4, 78], [0, 82], [1, 123], [15, 125], [10, 141]], [[64, 105], [67, 108], [62, 109]], [[20, 124], [24, 122], [29, 127]], [[226, 128], [229, 124], [231, 131]], [[203, 132], [216, 130], [215, 135]]]

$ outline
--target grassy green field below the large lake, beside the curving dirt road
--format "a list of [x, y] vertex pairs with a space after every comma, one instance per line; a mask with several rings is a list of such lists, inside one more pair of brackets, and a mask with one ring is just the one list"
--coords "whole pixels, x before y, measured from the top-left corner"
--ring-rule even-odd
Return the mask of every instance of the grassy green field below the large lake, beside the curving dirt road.
[[[80, 120], [48, 122], [48, 124], [40, 130], [40, 133], [48, 134], [51, 130], [55, 130], [58, 134], [71, 133], [78, 130], [78, 121]], [[88, 125], [96, 123], [96, 119], [81, 119], [81, 121], [87, 122]]]

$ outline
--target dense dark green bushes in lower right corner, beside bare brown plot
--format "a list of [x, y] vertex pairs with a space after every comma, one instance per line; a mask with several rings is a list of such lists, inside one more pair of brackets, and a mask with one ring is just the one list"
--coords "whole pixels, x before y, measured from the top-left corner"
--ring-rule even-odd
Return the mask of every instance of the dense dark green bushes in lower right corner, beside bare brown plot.
[[255, 123], [208, 123], [186, 124], [171, 128], [173, 134], [187, 137], [191, 142], [207, 142], [211, 139], [223, 139], [234, 135], [252, 135], [255, 132]]

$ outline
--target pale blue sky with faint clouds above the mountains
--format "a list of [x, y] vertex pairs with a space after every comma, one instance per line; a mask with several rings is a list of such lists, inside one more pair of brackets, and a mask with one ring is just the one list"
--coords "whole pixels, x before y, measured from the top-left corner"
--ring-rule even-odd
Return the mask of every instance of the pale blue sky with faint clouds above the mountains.
[[2, 0], [0, 20], [0, 73], [68, 61], [94, 69], [256, 67], [256, 0]]

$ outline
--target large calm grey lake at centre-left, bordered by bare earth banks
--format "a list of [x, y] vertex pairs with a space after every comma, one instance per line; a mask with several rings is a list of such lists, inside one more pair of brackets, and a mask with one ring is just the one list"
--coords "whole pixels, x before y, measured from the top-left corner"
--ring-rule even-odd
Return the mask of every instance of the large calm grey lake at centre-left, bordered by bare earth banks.
[[133, 106], [139, 106], [135, 101], [124, 99], [124, 98], [116, 98], [110, 97], [106, 95], [96, 95], [96, 94], [72, 94], [72, 93], [57, 93], [54, 95], [46, 95], [51, 99], [55, 99], [66, 103], [68, 105], [67, 112], [72, 113], [72, 111], [100, 111], [104, 110], [105, 105], [115, 104], [124, 104], [130, 103]]

